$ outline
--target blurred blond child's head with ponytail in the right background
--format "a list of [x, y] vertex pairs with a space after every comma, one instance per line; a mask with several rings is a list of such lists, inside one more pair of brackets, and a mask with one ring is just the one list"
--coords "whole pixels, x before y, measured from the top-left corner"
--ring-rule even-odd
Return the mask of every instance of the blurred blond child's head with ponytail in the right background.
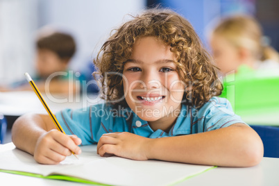
[[279, 68], [279, 55], [269, 46], [262, 28], [253, 17], [237, 15], [223, 19], [210, 35], [210, 45], [222, 74], [251, 69]]

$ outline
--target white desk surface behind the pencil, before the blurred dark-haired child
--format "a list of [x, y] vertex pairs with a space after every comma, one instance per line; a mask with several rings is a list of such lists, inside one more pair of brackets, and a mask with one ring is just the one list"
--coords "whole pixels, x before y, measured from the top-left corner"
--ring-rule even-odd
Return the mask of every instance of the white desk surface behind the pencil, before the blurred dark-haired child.
[[[86, 108], [89, 105], [103, 102], [98, 94], [78, 96], [50, 96], [42, 94], [42, 96], [53, 114], [65, 108]], [[47, 114], [35, 92], [0, 92], [0, 113], [3, 115], [20, 116], [28, 112]]]

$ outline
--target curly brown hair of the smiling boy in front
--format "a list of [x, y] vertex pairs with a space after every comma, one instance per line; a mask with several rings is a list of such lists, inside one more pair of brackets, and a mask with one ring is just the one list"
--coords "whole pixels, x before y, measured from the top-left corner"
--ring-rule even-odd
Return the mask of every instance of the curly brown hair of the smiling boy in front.
[[176, 70], [187, 85], [183, 101], [187, 100], [187, 103], [199, 108], [212, 96], [221, 94], [223, 87], [217, 76], [217, 67], [212, 64], [212, 58], [192, 25], [172, 10], [153, 8], [124, 23], [101, 47], [94, 64], [99, 70], [96, 74], [99, 74], [103, 99], [127, 106], [123, 99], [122, 77], [108, 73], [122, 74], [133, 44], [140, 37], [147, 36], [162, 40], [175, 53]]

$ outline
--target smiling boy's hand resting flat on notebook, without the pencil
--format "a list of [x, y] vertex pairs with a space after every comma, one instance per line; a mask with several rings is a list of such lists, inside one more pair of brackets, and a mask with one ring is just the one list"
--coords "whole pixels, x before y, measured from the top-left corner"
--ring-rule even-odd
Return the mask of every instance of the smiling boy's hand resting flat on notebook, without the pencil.
[[133, 160], [148, 160], [151, 139], [132, 133], [106, 133], [100, 138], [97, 153], [101, 156], [117, 155]]

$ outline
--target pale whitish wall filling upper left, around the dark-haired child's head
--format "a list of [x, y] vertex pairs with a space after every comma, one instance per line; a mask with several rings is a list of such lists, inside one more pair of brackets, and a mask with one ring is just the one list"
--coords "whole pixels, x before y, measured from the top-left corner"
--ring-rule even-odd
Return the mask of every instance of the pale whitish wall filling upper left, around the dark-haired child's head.
[[[53, 26], [73, 34], [78, 51], [71, 67], [80, 69], [128, 13], [143, 10], [145, 0], [1, 0], [0, 81], [12, 83], [34, 73], [37, 29]], [[128, 17], [126, 17], [128, 19]]]

